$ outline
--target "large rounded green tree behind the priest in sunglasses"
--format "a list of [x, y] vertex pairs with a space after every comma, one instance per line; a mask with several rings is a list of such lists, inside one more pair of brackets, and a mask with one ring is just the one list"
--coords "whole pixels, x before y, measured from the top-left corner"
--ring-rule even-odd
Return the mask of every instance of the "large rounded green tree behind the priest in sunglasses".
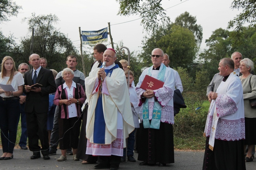
[[154, 31], [151, 37], [144, 37], [143, 51], [139, 54], [143, 66], [151, 66], [151, 52], [160, 48], [169, 55], [170, 67], [183, 67], [191, 71], [197, 53], [197, 45], [193, 32], [181, 26], [168, 24]]

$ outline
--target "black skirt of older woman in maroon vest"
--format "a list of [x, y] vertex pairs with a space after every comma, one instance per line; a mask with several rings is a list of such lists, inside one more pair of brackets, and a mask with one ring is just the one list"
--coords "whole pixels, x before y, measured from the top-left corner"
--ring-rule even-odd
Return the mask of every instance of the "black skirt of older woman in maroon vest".
[[81, 118], [59, 118], [58, 123], [60, 137], [59, 148], [61, 150], [69, 149], [70, 147], [77, 149], [80, 134]]

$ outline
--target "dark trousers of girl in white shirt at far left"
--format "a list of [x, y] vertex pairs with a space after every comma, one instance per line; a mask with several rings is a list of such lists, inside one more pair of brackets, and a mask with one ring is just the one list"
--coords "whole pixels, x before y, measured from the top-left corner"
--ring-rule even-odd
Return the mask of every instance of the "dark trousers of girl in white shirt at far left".
[[0, 129], [3, 153], [13, 153], [19, 113], [19, 100], [2, 100], [0, 98]]

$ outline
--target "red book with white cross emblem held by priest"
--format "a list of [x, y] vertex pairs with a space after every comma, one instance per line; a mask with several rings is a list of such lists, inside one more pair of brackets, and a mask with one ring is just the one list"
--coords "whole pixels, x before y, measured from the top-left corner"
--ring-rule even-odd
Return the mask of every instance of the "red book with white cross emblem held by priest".
[[146, 89], [156, 90], [156, 89], [163, 87], [163, 84], [165, 84], [165, 83], [160, 80], [157, 80], [149, 75], [145, 75], [145, 78], [142, 81], [140, 88], [142, 88], [144, 90], [146, 90]]

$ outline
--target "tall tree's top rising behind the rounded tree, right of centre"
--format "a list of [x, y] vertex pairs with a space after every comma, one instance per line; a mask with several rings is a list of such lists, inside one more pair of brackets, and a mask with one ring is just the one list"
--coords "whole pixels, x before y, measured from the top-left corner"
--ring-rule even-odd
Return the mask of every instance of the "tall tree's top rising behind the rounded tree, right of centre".
[[175, 18], [175, 22], [173, 24], [179, 25], [183, 28], [187, 28], [194, 33], [196, 43], [198, 47], [200, 47], [203, 38], [203, 28], [201, 25], [198, 25], [196, 17], [189, 15], [186, 11], [185, 13], [179, 15]]

